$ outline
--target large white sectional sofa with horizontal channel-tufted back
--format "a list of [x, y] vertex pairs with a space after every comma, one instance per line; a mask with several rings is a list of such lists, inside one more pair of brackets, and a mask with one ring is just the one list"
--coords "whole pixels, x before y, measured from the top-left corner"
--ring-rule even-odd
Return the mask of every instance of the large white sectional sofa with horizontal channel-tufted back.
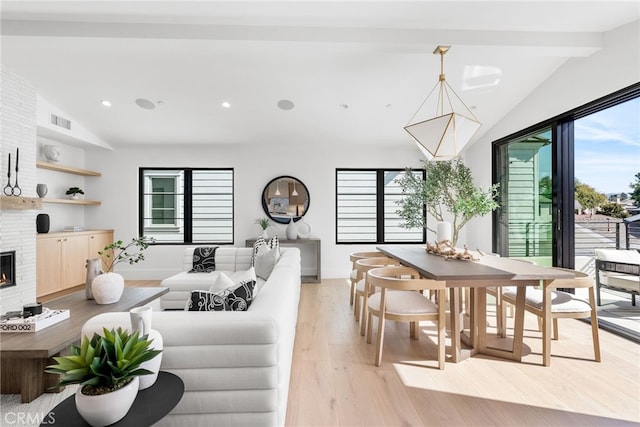
[[[251, 248], [221, 247], [216, 271], [250, 267]], [[185, 260], [193, 249], [185, 251]], [[189, 264], [188, 266], [186, 264]], [[191, 259], [185, 261], [185, 270]], [[165, 280], [175, 289], [165, 295], [165, 308], [184, 309], [193, 290], [208, 290], [213, 273], [180, 273]], [[178, 375], [185, 393], [160, 426], [282, 426], [300, 298], [300, 250], [282, 248], [266, 281], [245, 312], [160, 311], [152, 329], [162, 334], [161, 370]], [[90, 319], [83, 335], [102, 327], [130, 327], [128, 313]]]

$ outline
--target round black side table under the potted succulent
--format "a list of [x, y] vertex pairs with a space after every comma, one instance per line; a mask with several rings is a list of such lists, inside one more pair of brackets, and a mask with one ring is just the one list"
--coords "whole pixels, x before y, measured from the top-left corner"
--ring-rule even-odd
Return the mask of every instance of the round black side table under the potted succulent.
[[[140, 390], [127, 415], [111, 426], [150, 426], [171, 412], [182, 399], [183, 394], [184, 383], [180, 377], [160, 371], [155, 384], [145, 390]], [[40, 427], [50, 426], [89, 426], [76, 409], [75, 394], [60, 402], [43, 418]]]

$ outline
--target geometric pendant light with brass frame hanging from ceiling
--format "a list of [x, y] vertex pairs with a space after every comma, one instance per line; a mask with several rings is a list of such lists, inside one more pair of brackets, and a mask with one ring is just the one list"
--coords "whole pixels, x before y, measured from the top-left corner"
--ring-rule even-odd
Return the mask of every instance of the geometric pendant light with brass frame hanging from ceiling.
[[[433, 160], [450, 160], [458, 156], [482, 126], [445, 79], [444, 55], [450, 48], [451, 46], [438, 46], [433, 51], [440, 55], [438, 83], [404, 127], [433, 156]], [[431, 97], [436, 89], [437, 99]], [[425, 115], [426, 118], [421, 118]]]

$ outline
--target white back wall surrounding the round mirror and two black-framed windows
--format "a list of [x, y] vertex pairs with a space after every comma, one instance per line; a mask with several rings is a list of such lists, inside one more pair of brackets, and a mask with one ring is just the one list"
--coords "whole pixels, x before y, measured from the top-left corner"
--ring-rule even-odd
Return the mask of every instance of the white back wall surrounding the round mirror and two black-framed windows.
[[[271, 150], [265, 141], [261, 148], [246, 146], [154, 146], [116, 148], [113, 152], [89, 150], [86, 168], [102, 177], [85, 181], [87, 191], [102, 201], [97, 208], [86, 208], [86, 226], [112, 228], [115, 238], [129, 241], [138, 233], [139, 167], [233, 167], [235, 177], [235, 246], [255, 238], [261, 230], [255, 219], [264, 216], [260, 198], [265, 185], [279, 175], [291, 175], [308, 188], [311, 204], [305, 222], [312, 236], [322, 240], [322, 277], [348, 277], [349, 254], [372, 250], [375, 245], [335, 244], [336, 168], [420, 167], [421, 154], [410, 142], [399, 140], [397, 148], [335, 150], [309, 147]], [[93, 197], [93, 196], [92, 196]], [[284, 238], [286, 225], [276, 225]], [[145, 261], [122, 266], [118, 271], [130, 279], [162, 279], [181, 269], [183, 246], [155, 246]]]

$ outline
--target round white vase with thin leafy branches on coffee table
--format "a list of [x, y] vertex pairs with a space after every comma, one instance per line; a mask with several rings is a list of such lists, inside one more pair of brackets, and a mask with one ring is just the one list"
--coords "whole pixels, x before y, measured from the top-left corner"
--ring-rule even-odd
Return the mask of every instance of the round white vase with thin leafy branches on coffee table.
[[124, 292], [124, 277], [113, 271], [121, 262], [137, 264], [144, 260], [143, 251], [155, 240], [146, 236], [132, 239], [128, 244], [115, 241], [98, 252], [102, 257], [105, 271], [91, 282], [91, 293], [98, 304], [113, 304], [120, 301]]

